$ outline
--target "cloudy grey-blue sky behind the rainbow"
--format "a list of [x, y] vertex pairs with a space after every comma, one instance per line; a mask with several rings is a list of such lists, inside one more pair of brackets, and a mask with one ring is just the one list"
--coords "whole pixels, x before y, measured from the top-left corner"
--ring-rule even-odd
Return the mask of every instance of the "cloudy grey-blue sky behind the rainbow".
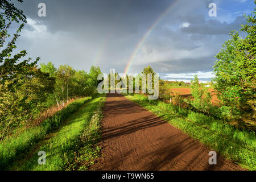
[[[46, 4], [46, 17], [38, 4]], [[216, 3], [217, 17], [208, 15]], [[214, 57], [232, 30], [245, 23], [253, 0], [24, 0], [28, 23], [18, 39], [40, 63], [89, 71], [140, 73], [150, 65], [165, 79], [209, 80]], [[143, 39], [144, 38], [144, 39]], [[143, 41], [142, 41], [143, 40]], [[138, 48], [139, 44], [139, 48]], [[132, 57], [133, 56], [133, 57]], [[132, 57], [132, 59], [131, 59]]]

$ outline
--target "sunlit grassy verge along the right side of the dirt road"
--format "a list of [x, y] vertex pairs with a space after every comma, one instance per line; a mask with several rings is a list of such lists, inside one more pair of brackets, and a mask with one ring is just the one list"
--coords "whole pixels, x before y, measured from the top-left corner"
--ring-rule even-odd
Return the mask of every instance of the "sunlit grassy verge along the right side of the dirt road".
[[225, 122], [139, 94], [126, 95], [131, 101], [162, 117], [192, 138], [220, 152], [242, 167], [256, 170], [255, 133], [240, 131]]

